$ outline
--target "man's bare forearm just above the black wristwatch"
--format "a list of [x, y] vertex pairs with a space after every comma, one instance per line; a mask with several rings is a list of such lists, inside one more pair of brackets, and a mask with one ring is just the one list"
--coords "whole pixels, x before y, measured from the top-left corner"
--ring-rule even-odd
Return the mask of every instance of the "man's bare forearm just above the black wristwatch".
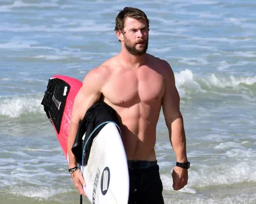
[[177, 117], [172, 121], [169, 129], [170, 142], [177, 158], [177, 162], [187, 162], [186, 136], [183, 125], [183, 117]]

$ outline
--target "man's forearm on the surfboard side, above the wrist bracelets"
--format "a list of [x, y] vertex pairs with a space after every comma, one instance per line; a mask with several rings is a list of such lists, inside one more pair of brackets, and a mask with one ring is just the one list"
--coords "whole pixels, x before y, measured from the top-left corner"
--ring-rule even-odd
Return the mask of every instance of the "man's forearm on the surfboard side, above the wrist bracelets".
[[67, 152], [68, 152], [68, 159], [69, 159], [69, 168], [73, 168], [77, 166], [77, 159], [75, 155], [71, 151], [73, 143], [75, 141], [75, 136], [77, 134], [78, 124], [77, 123], [70, 123], [69, 127], [69, 136], [67, 137]]

